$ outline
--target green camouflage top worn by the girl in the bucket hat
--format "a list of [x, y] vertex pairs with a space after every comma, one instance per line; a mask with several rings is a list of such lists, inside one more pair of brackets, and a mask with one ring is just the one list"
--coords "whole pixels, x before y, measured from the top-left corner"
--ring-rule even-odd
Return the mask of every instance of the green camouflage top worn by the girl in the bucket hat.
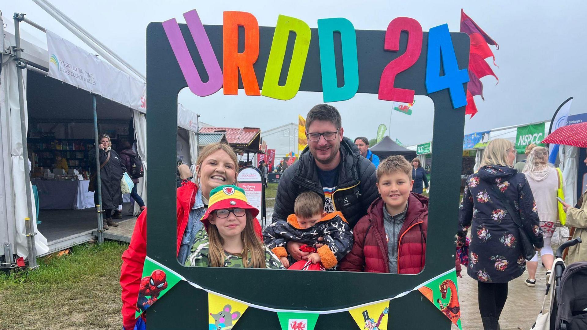
[[[208, 263], [208, 232], [205, 228], [201, 228], [198, 233], [195, 234], [194, 245], [191, 247], [191, 253], [188, 255], [185, 265], [188, 267], [209, 267]], [[274, 270], [284, 270], [284, 265], [281, 264], [279, 258], [271, 252], [265, 245], [265, 268], [271, 268]], [[244, 268], [242, 264], [242, 255], [230, 254], [224, 252], [226, 258], [224, 259], [224, 267], [231, 268]], [[250, 257], [249, 257], [250, 261]]]

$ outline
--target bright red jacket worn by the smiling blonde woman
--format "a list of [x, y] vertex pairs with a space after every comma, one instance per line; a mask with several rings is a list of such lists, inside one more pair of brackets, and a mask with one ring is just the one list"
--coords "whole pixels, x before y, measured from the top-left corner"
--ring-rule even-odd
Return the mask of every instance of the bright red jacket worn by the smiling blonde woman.
[[[181, 187], [177, 188], [177, 251], [179, 251], [181, 238], [187, 226], [191, 206], [195, 203], [195, 194], [198, 186], [184, 180]], [[143, 264], [147, 255], [147, 210], [137, 218], [134, 225], [133, 237], [130, 239], [129, 248], [122, 254], [122, 268], [120, 269], [120, 287], [122, 287], [122, 322], [124, 329], [134, 328], [136, 319], [137, 298], [139, 287], [143, 277]], [[255, 232], [262, 240], [261, 225], [254, 221]]]

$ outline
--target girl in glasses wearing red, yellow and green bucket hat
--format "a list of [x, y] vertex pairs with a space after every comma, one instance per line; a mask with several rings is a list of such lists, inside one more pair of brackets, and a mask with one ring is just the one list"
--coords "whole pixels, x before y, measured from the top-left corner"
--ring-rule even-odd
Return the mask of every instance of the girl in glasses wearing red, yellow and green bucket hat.
[[257, 237], [257, 208], [245, 191], [225, 185], [210, 192], [204, 224], [195, 235], [186, 266], [285, 269], [281, 261]]

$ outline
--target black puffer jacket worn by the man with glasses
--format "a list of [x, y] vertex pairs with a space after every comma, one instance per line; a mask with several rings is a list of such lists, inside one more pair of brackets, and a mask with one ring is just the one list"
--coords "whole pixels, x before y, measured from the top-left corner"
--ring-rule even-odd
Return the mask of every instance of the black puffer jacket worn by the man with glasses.
[[[340, 142], [340, 151], [342, 163], [332, 199], [335, 211], [341, 211], [350, 228], [353, 228], [379, 196], [375, 185], [375, 165], [361, 156], [352, 140], [346, 137]], [[286, 220], [289, 214], [294, 213], [295, 198], [304, 191], [315, 191], [324, 198], [316, 162], [308, 147], [279, 179], [272, 221]]]

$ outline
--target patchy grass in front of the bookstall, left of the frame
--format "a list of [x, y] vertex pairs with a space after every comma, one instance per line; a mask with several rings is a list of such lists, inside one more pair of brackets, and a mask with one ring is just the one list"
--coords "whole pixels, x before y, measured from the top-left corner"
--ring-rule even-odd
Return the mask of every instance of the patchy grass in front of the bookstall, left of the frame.
[[39, 258], [36, 271], [0, 271], [0, 329], [120, 329], [126, 244], [84, 244]]

